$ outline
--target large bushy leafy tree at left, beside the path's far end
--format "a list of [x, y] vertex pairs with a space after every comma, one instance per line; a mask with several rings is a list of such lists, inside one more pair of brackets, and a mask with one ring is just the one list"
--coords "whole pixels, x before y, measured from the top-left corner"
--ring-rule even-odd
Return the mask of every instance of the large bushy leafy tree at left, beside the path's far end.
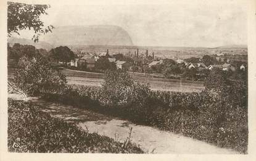
[[19, 69], [15, 72], [16, 85], [26, 94], [37, 96], [42, 93], [57, 93], [65, 88], [65, 76], [54, 72], [45, 57], [21, 58]]

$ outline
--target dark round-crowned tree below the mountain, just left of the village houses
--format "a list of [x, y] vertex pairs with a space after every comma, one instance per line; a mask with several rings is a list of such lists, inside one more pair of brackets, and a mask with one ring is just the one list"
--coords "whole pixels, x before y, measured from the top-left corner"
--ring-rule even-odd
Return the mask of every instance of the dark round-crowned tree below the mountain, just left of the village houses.
[[59, 46], [50, 51], [51, 58], [56, 60], [57, 62], [70, 62], [76, 58], [73, 51], [71, 51], [67, 46]]

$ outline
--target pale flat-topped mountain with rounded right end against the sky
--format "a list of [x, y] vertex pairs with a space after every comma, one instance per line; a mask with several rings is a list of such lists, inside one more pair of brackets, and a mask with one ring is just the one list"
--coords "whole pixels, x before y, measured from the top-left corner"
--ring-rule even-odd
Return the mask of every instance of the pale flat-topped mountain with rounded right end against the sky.
[[114, 25], [56, 27], [52, 33], [43, 35], [41, 41], [53, 46], [113, 45], [133, 46], [127, 31]]

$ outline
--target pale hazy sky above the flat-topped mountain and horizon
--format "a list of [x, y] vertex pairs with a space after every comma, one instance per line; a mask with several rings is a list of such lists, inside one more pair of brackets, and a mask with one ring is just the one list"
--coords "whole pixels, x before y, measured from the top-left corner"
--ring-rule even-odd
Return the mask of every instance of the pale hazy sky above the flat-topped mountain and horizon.
[[[117, 25], [138, 46], [247, 44], [246, 1], [176, 1], [168, 4], [51, 4], [46, 25]], [[211, 3], [209, 3], [211, 2]], [[214, 3], [213, 3], [214, 2]], [[54, 31], [54, 30], [53, 30]], [[31, 38], [28, 34], [24, 38]]]

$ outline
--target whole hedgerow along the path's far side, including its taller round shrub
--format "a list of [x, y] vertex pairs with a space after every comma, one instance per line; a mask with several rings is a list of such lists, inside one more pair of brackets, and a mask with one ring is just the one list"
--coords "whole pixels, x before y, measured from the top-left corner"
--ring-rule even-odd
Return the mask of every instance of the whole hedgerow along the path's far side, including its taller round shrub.
[[73, 85], [66, 94], [48, 93], [44, 98], [247, 152], [247, 96], [237, 102], [231, 94], [212, 89], [201, 93], [151, 91], [147, 85], [131, 81], [125, 73], [111, 74], [119, 81], [107, 81], [102, 88]]

